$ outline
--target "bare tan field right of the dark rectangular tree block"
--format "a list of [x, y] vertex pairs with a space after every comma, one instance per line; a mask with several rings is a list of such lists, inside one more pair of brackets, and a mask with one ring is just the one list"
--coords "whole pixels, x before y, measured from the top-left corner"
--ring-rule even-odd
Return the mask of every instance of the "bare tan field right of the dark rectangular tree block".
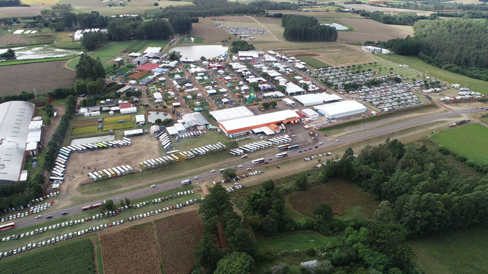
[[340, 31], [337, 40], [364, 43], [366, 41], [387, 41], [412, 35], [411, 26], [388, 25], [370, 19], [337, 19], [354, 28], [354, 31]]

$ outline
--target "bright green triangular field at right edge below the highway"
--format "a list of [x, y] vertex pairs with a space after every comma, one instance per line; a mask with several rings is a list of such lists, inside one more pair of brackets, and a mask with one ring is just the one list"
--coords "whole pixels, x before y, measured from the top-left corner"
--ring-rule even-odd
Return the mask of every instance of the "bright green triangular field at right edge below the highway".
[[488, 128], [470, 124], [434, 134], [430, 140], [480, 163], [488, 164]]

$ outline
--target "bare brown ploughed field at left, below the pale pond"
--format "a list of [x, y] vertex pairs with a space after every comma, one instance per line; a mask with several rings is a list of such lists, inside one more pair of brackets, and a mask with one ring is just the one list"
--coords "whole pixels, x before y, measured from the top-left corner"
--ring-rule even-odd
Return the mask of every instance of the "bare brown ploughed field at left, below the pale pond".
[[63, 66], [65, 61], [0, 66], [0, 96], [20, 94], [21, 91], [50, 92], [55, 88], [72, 87], [76, 81], [74, 71]]

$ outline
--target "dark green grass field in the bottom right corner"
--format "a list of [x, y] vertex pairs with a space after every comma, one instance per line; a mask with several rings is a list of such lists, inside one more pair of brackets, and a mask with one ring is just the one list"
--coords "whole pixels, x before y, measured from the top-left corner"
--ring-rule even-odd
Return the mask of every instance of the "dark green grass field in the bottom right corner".
[[415, 265], [426, 274], [488, 273], [488, 229], [472, 228], [424, 239], [409, 240]]

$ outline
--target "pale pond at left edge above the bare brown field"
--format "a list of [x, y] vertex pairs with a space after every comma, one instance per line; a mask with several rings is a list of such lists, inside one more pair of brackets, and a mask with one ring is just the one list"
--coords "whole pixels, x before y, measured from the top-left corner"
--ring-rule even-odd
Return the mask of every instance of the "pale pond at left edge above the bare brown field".
[[[15, 51], [17, 60], [63, 57], [83, 53], [81, 50], [59, 49], [51, 45], [33, 45], [12, 49]], [[0, 49], [0, 54], [6, 51], [7, 49]]]

